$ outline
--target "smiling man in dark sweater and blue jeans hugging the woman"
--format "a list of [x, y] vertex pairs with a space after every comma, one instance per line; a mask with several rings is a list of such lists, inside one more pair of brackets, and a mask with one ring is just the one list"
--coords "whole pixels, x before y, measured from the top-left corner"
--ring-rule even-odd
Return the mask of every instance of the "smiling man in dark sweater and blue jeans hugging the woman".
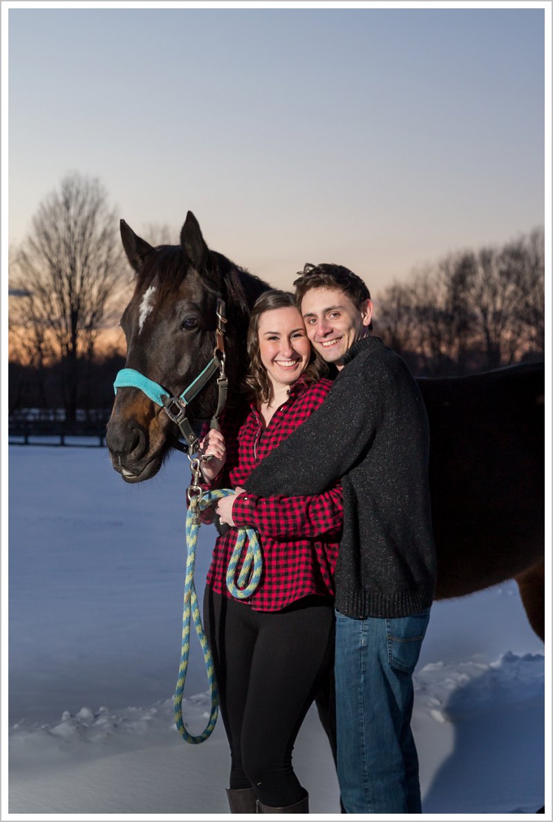
[[311, 344], [339, 375], [325, 402], [228, 497], [238, 526], [260, 496], [343, 487], [336, 566], [338, 774], [348, 813], [421, 813], [412, 672], [435, 589], [428, 421], [407, 365], [372, 336], [366, 284], [343, 266], [295, 282]]

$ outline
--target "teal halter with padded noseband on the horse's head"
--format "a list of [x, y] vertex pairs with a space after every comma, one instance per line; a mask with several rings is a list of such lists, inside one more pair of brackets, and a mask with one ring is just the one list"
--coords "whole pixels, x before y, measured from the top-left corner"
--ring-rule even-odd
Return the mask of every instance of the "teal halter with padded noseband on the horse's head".
[[[200, 446], [200, 440], [193, 432], [191, 424], [187, 419], [187, 405], [191, 403], [200, 391], [207, 385], [210, 379], [219, 372], [217, 386], [219, 389], [219, 399], [217, 409], [211, 419], [210, 427], [219, 428], [219, 415], [223, 411], [227, 401], [228, 379], [225, 374], [225, 353], [224, 353], [224, 324], [225, 317], [224, 301], [217, 303], [218, 326], [215, 330], [216, 345], [213, 358], [207, 363], [196, 379], [182, 391], [182, 394], [173, 396], [171, 391], [166, 390], [159, 383], [150, 380], [134, 368], [122, 368], [115, 377], [113, 390], [118, 393], [118, 388], [138, 388], [156, 405], [165, 409], [168, 418], [176, 423], [187, 444], [187, 452], [195, 454]], [[178, 446], [177, 446], [178, 447]]]

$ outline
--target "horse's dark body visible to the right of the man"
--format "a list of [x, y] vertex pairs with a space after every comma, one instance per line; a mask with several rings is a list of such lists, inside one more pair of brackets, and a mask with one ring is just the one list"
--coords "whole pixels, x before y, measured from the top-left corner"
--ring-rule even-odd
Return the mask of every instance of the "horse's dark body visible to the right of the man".
[[514, 577], [542, 637], [530, 611], [543, 590], [543, 363], [418, 384], [431, 429], [436, 598]]

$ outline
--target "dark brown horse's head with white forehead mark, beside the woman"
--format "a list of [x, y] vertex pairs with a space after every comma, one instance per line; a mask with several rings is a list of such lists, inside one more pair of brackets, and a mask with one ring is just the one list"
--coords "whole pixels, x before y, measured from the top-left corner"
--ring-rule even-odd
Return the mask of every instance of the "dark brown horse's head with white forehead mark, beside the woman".
[[[177, 397], [214, 358], [218, 301], [227, 310], [225, 356], [228, 381], [236, 392], [247, 367], [244, 329], [256, 297], [268, 288], [254, 275], [211, 251], [191, 213], [179, 246], [152, 247], [121, 221], [122, 244], [136, 272], [131, 301], [122, 313], [127, 339], [125, 367]], [[211, 380], [187, 407], [187, 418], [210, 418], [217, 404]], [[106, 443], [113, 468], [127, 483], [159, 471], [178, 440], [178, 428], [137, 387], [118, 388]]]

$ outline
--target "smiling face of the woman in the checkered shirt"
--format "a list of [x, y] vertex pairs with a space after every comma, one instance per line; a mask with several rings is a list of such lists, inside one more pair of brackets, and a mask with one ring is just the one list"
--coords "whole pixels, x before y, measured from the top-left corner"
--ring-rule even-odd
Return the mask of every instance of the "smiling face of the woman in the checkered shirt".
[[302, 315], [293, 306], [266, 311], [259, 318], [257, 335], [261, 363], [271, 385], [291, 386], [311, 357]]

